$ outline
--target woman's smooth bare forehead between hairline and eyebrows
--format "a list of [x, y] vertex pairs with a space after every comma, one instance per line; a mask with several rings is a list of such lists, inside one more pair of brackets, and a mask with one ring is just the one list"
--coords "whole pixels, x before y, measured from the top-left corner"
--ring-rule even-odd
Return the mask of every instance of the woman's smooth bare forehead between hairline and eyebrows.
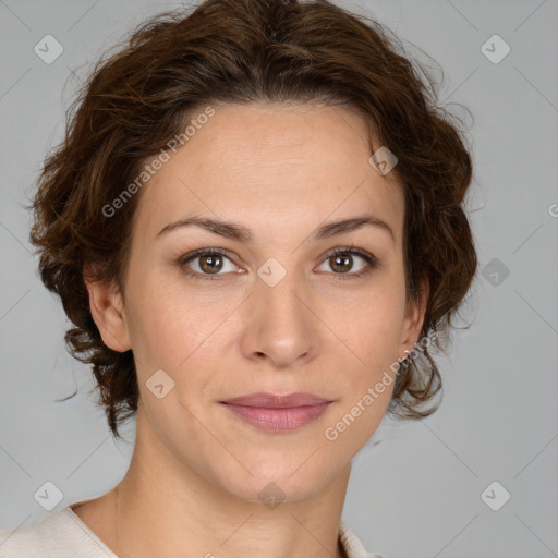
[[323, 105], [214, 110], [143, 186], [134, 227], [142, 242], [192, 215], [245, 223], [256, 241], [288, 241], [291, 232], [294, 242], [326, 220], [365, 213], [388, 221], [401, 242], [403, 194], [393, 173], [371, 166], [361, 117]]

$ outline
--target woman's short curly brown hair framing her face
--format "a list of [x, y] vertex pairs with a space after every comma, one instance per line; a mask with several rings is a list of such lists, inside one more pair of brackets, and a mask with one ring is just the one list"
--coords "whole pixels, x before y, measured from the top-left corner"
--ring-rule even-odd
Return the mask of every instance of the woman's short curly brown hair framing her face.
[[[141, 193], [112, 218], [102, 208], [210, 102], [320, 101], [363, 117], [371, 146], [372, 138], [378, 142], [372, 148], [387, 146], [398, 158], [392, 172], [404, 187], [407, 293], [418, 301], [427, 277], [421, 335], [436, 333], [433, 344], [444, 351], [477, 265], [462, 208], [472, 161], [452, 122], [461, 120], [438, 107], [434, 80], [391, 31], [327, 0], [206, 0], [192, 11], [150, 17], [114, 48], [68, 110], [64, 141], [46, 157], [28, 208], [41, 280], [75, 326], [65, 335], [68, 350], [93, 365], [98, 404], [116, 437], [137, 410], [134, 355], [102, 342], [84, 266], [124, 292]], [[424, 348], [421, 359], [398, 363], [388, 412], [427, 416], [439, 403], [425, 403], [440, 389], [439, 371]]]

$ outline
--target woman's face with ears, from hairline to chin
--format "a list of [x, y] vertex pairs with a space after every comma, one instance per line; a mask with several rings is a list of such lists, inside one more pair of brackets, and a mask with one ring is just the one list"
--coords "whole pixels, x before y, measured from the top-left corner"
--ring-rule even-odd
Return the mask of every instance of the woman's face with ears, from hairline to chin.
[[[241, 499], [271, 481], [306, 498], [345, 469], [387, 409], [390, 365], [417, 341], [403, 193], [371, 155], [342, 108], [215, 106], [143, 186], [120, 311], [96, 311], [105, 342], [134, 352], [145, 428]], [[236, 229], [180, 225], [192, 218]], [[372, 225], [324, 228], [354, 218]], [[223, 403], [254, 392], [329, 403], [266, 429]]]

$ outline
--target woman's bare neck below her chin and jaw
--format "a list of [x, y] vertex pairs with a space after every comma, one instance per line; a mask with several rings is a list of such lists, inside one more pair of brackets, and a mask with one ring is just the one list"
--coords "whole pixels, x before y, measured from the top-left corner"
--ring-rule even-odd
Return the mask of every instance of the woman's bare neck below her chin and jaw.
[[250, 486], [208, 482], [208, 475], [185, 464], [150, 430], [143, 412], [137, 421], [134, 454], [112, 492], [109, 513], [113, 536], [108, 546], [120, 558], [185, 553], [207, 558], [344, 557], [338, 533], [350, 463], [307, 497], [300, 496], [304, 486], [293, 490], [290, 483], [290, 498], [277, 484], [264, 483], [263, 498], [245, 499], [235, 493]]

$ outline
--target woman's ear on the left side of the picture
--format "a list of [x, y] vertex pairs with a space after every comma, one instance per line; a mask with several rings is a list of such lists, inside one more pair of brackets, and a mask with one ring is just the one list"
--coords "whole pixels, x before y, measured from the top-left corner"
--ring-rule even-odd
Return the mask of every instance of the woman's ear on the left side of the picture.
[[83, 278], [89, 292], [89, 310], [104, 343], [113, 351], [132, 348], [124, 315], [124, 306], [117, 286], [93, 279], [90, 267], [85, 266]]

